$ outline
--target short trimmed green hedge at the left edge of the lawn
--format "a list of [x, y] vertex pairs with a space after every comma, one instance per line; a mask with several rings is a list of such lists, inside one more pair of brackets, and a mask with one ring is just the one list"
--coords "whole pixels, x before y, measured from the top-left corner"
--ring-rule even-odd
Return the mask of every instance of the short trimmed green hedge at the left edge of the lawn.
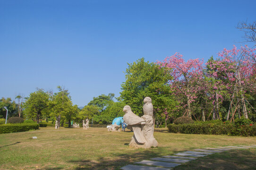
[[39, 125], [36, 123], [15, 123], [15, 124], [3, 124], [0, 125], [0, 134], [13, 133], [13, 132], [25, 132], [28, 130], [36, 130]]

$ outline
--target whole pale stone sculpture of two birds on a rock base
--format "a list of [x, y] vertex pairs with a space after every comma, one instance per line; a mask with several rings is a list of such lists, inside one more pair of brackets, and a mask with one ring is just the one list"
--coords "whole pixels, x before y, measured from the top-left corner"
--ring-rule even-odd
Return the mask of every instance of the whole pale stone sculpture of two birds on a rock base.
[[151, 148], [158, 145], [154, 138], [154, 119], [153, 119], [153, 105], [150, 97], [144, 99], [142, 117], [137, 116], [131, 110], [130, 106], [125, 106], [123, 111], [124, 122], [128, 125], [128, 129], [132, 129], [134, 135], [130, 141], [129, 146], [135, 148]]

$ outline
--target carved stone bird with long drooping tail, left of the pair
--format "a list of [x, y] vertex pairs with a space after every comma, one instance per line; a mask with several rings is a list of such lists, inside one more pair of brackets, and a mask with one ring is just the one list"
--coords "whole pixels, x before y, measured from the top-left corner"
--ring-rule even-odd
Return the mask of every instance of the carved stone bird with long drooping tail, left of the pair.
[[145, 120], [134, 114], [128, 105], [124, 107], [123, 111], [125, 112], [123, 116], [124, 122], [132, 127], [137, 142], [145, 144], [146, 139], [142, 132], [142, 125], [145, 124]]

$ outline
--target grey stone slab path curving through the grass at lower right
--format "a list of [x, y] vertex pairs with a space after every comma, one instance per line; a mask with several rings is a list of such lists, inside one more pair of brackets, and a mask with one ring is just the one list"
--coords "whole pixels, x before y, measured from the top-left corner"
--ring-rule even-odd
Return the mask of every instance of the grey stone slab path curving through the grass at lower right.
[[249, 144], [248, 146], [218, 146], [217, 148], [207, 147], [203, 149], [194, 149], [193, 151], [175, 153], [174, 155], [167, 155], [157, 158], [151, 158], [150, 160], [135, 162], [137, 165], [127, 165], [122, 167], [121, 170], [171, 170], [171, 168], [179, 166], [181, 163], [192, 161], [210, 154], [230, 151], [232, 149], [249, 148], [256, 148], [256, 144]]

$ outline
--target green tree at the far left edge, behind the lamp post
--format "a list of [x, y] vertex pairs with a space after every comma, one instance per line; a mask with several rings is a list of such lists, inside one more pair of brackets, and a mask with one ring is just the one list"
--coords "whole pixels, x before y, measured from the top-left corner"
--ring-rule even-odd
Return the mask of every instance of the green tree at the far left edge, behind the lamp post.
[[12, 101], [11, 98], [4, 98], [0, 99], [0, 118], [6, 119], [6, 110], [4, 106], [8, 109], [8, 118], [12, 116], [16, 116], [17, 109], [15, 101]]

